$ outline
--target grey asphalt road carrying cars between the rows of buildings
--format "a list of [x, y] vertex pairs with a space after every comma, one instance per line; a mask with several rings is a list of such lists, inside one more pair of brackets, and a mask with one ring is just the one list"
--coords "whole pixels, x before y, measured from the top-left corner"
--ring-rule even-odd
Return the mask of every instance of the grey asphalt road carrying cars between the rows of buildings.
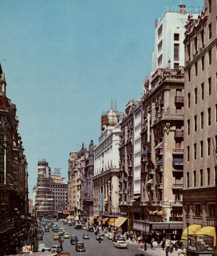
[[[75, 226], [63, 225], [63, 223], [58, 222], [58, 227], [65, 227], [66, 232], [69, 236], [76, 235], [80, 242], [84, 242], [86, 247], [86, 252], [76, 252], [75, 245], [70, 244], [70, 239], [64, 239], [63, 252], [69, 252], [70, 256], [82, 255], [82, 256], [134, 256], [136, 253], [144, 253], [144, 255], [149, 255], [148, 253], [139, 250], [141, 245], [139, 244], [128, 244], [127, 249], [118, 249], [114, 247], [113, 242], [108, 240], [106, 236], [103, 237], [103, 241], [99, 243], [96, 240], [96, 235], [94, 232], [87, 232], [86, 230], [75, 230]], [[44, 231], [44, 227], [43, 231]], [[83, 234], [89, 234], [90, 239], [82, 239]], [[50, 232], [44, 232], [43, 240], [38, 241], [38, 244], [45, 243], [46, 247], [51, 247], [52, 245], [59, 245], [58, 240], [53, 240], [54, 232], [50, 228]], [[63, 236], [61, 236], [63, 238]]]

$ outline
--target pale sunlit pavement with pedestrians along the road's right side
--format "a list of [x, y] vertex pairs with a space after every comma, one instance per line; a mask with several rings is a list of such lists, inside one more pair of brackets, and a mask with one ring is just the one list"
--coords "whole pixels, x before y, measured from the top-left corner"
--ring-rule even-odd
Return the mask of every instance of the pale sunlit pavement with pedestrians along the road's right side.
[[[105, 236], [108, 236], [108, 233], [105, 234]], [[163, 250], [159, 244], [156, 249], [151, 249], [150, 244], [147, 244], [147, 251], [144, 251], [144, 244], [142, 244], [142, 243], [138, 244], [135, 241], [133, 243], [133, 241], [131, 241], [130, 239], [126, 240], [126, 243], [127, 244], [135, 244], [135, 248], [139, 249], [141, 251], [141, 253], [148, 253], [151, 256], [166, 256], [165, 249]], [[141, 248], [141, 245], [142, 245], [142, 248]], [[173, 249], [173, 252], [169, 253], [169, 255], [170, 256], [178, 256], [178, 251], [175, 251], [175, 249]]]

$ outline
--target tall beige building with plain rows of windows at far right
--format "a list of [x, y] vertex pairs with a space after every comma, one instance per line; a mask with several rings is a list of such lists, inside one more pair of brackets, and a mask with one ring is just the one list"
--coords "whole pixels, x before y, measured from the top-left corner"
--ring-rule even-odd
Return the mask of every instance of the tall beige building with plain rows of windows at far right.
[[[186, 66], [183, 229], [188, 224], [199, 224], [200, 234], [204, 234], [207, 226], [215, 234], [217, 227], [216, 17], [216, 1], [205, 0], [205, 11], [198, 19], [189, 16], [184, 40]], [[212, 255], [211, 251], [209, 253]], [[190, 247], [190, 255], [199, 254]]]

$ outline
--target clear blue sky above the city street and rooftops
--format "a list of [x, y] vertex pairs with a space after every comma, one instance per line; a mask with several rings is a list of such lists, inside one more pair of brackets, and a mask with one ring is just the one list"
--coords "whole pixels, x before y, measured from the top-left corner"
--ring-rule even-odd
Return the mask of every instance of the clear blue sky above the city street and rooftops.
[[[1, 0], [0, 63], [29, 172], [38, 159], [68, 180], [71, 150], [98, 144], [111, 98], [124, 112], [151, 70], [155, 19], [180, 0]], [[182, 0], [204, 6], [203, 0]]]

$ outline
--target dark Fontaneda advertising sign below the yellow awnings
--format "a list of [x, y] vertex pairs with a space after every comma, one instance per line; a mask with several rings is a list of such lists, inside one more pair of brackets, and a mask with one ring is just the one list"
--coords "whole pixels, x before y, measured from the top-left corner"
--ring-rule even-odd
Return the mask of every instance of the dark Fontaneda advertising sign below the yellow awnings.
[[214, 237], [208, 235], [188, 235], [188, 249], [193, 252], [213, 252]]

